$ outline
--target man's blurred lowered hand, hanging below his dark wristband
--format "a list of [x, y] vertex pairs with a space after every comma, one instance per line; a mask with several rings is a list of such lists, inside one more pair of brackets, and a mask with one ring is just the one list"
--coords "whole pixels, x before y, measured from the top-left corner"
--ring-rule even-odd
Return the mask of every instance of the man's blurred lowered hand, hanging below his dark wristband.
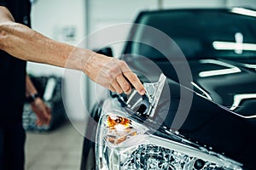
[[37, 115], [37, 125], [49, 125], [51, 121], [51, 113], [49, 106], [46, 105], [43, 99], [37, 98], [31, 103], [32, 111]]

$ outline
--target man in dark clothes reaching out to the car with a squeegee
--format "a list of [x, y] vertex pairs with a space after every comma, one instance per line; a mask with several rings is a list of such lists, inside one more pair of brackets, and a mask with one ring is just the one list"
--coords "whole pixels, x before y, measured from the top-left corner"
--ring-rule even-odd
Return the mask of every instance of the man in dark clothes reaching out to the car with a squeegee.
[[[30, 11], [29, 0], [0, 0], [0, 170], [24, 169], [24, 94], [36, 102], [35, 92], [27, 94], [31, 87], [27, 88], [26, 61], [83, 71], [118, 94], [130, 94], [132, 86], [139, 94], [145, 93], [143, 84], [124, 61], [55, 42], [30, 29]], [[33, 110], [41, 108], [44, 112], [38, 114], [38, 124], [48, 123], [47, 106], [40, 99], [37, 102], [40, 104], [34, 108], [36, 103], [32, 103]]]

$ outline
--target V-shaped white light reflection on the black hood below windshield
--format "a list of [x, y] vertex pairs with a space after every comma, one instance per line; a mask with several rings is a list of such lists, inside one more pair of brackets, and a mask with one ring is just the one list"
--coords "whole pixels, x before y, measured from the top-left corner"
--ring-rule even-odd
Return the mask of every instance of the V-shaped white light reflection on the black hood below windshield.
[[199, 73], [199, 77], [214, 77], [214, 76], [221, 76], [221, 75], [234, 74], [234, 73], [241, 72], [241, 70], [234, 65], [230, 65], [214, 59], [201, 59], [200, 62], [202, 64], [221, 65], [224, 67], [228, 67], [228, 69], [220, 69], [220, 70], [214, 70], [214, 71], [201, 71]]

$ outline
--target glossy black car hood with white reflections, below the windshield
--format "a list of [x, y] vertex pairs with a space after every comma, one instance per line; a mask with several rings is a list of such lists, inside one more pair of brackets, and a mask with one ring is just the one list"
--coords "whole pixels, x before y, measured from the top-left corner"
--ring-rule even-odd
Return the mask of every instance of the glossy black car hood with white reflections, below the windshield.
[[[159, 68], [154, 68], [152, 61], [137, 58], [125, 60], [134, 70], [140, 72], [153, 82], [162, 71], [166, 77], [183, 84], [195, 93], [235, 111], [241, 116], [254, 116], [256, 113], [256, 59], [172, 59], [155, 61]], [[180, 74], [174, 69], [189, 64], [192, 77]], [[149, 66], [148, 66], [149, 65]], [[181, 69], [182, 71], [183, 69]], [[184, 69], [185, 70], [185, 69]], [[178, 74], [180, 77], [178, 78]], [[180, 78], [185, 79], [183, 82]], [[142, 78], [143, 79], [143, 78]]]

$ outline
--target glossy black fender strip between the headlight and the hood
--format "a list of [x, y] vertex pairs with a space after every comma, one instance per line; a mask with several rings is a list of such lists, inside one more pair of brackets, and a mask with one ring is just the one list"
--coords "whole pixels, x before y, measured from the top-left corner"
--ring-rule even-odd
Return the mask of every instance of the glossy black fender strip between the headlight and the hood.
[[[194, 94], [186, 121], [182, 127], [176, 128], [173, 126], [173, 119], [179, 105], [180, 96], [177, 91], [182, 87], [170, 81], [168, 84], [172, 98], [163, 126], [171, 127], [174, 130], [178, 129], [178, 132], [190, 141], [239, 161], [249, 169], [256, 167], [254, 161], [254, 154], [256, 153], [255, 119], [237, 116], [227, 108]], [[161, 101], [160, 105], [161, 103], [164, 101]], [[158, 116], [161, 115], [162, 113], [159, 112]], [[157, 120], [158, 117], [156, 116], [155, 119]]]

